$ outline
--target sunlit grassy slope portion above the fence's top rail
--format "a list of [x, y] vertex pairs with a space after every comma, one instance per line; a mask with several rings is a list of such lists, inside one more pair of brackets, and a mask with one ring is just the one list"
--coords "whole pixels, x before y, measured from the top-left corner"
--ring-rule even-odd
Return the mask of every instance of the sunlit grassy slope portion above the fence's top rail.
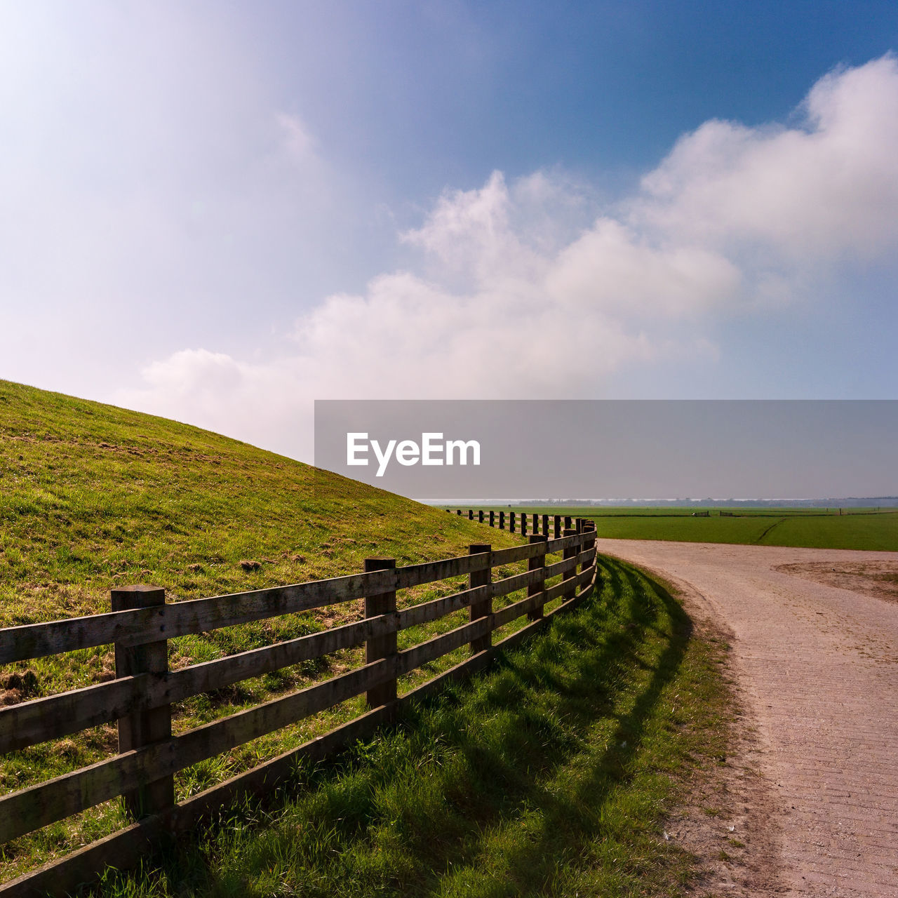
[[[0, 622], [444, 558], [482, 529], [197, 427], [0, 381]], [[241, 561], [258, 568], [245, 569]]]

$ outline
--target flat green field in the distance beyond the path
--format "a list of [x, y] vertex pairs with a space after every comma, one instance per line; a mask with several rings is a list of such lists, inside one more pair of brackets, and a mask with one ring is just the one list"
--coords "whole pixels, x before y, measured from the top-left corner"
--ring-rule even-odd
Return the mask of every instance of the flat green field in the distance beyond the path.
[[[898, 551], [898, 509], [633, 508], [491, 506], [494, 511], [570, 515], [594, 521], [600, 538], [737, 542], [764, 546]], [[489, 511], [490, 506], [484, 506]], [[708, 511], [709, 517], [693, 516]], [[729, 513], [729, 516], [726, 513]], [[446, 515], [447, 517], [449, 515]], [[506, 524], [507, 526], [507, 524]]]

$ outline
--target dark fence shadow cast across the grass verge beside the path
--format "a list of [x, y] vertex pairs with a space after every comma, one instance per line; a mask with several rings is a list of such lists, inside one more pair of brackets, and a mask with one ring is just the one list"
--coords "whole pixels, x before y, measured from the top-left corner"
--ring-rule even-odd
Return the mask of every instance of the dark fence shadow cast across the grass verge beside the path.
[[[540, 888], [548, 884], [558, 869], [559, 858], [576, 856], [601, 834], [603, 807], [613, 790], [629, 778], [629, 767], [640, 751], [647, 722], [665, 685], [676, 676], [691, 638], [691, 621], [664, 587], [613, 560], [606, 560], [601, 573], [606, 588], [588, 612], [557, 622], [559, 642], [576, 649], [573, 663], [559, 665], [550, 644], [535, 644], [529, 655], [512, 656], [503, 672], [514, 672], [531, 688], [550, 691], [559, 718], [568, 721], [568, 731], [586, 732], [603, 721], [613, 721], [610, 732], [603, 736], [603, 752], [590, 758], [586, 770], [579, 765], [576, 791], [546, 787], [562, 767], [575, 760], [582, 744], [570, 738], [547, 743], [546, 736], [551, 733], [539, 726], [533, 728], [530, 738], [523, 737], [522, 732], [531, 723], [528, 718], [533, 717], [526, 709], [510, 721], [498, 752], [485, 751], [476, 733], [467, 734], [462, 744], [471, 769], [482, 771], [476, 786], [492, 793], [494, 806], [527, 806], [539, 812], [541, 823], [530, 828], [525, 840], [504, 852], [508, 894], [528, 885]], [[609, 594], [627, 597], [615, 615], [621, 623], [610, 629], [593, 629], [591, 622], [601, 617], [603, 600], [607, 601]], [[648, 657], [647, 634], [656, 637]], [[629, 708], [614, 709], [613, 684], [633, 666], [645, 670], [648, 682], [635, 700], [622, 702]], [[499, 674], [499, 683], [501, 677]], [[502, 690], [495, 691], [483, 713], [489, 716], [500, 711], [507, 698]], [[527, 765], [527, 777], [519, 775], [522, 763]], [[479, 816], [481, 827], [503, 823], [501, 814]], [[510, 818], [514, 816], [514, 812], [510, 814]], [[453, 857], [447, 851], [433, 858], [434, 866], [452, 869], [462, 863], [477, 867], [481, 850], [485, 846], [471, 846], [462, 852], [466, 857]], [[441, 891], [440, 877], [435, 876], [422, 894], [431, 891]], [[502, 894], [501, 889], [497, 894]]]

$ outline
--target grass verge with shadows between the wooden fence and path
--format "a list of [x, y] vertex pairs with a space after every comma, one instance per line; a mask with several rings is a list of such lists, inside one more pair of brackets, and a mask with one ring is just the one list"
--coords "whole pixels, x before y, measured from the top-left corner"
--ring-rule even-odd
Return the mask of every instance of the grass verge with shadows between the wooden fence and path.
[[724, 648], [605, 560], [602, 594], [546, 635], [101, 894], [685, 894], [662, 831], [726, 755]]

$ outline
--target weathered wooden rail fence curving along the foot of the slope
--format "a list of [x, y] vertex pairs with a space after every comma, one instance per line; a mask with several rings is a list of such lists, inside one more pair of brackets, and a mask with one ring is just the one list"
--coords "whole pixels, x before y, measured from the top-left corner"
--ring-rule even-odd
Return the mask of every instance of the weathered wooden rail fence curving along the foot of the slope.
[[[568, 522], [570, 523], [570, 522]], [[545, 534], [545, 526], [543, 534]], [[561, 554], [548, 563], [547, 556]], [[528, 570], [494, 580], [493, 568], [528, 562]], [[136, 864], [165, 832], [184, 832], [241, 795], [267, 791], [289, 777], [305, 756], [318, 760], [394, 720], [409, 701], [445, 682], [480, 670], [497, 650], [515, 645], [552, 614], [578, 603], [594, 589], [595, 533], [578, 521], [548, 539], [534, 535], [510, 549], [471, 545], [468, 555], [395, 567], [393, 559], [366, 559], [365, 571], [249, 593], [165, 603], [163, 589], [132, 586], [113, 590], [112, 611], [63, 621], [0, 629], [0, 665], [105, 644], [115, 646], [116, 679], [0, 709], [0, 752], [13, 752], [88, 727], [117, 722], [119, 753], [0, 797], [0, 843], [65, 819], [111, 798], [122, 797], [135, 820], [39, 870], [4, 885], [12, 896], [63, 894], [90, 882], [107, 866]], [[397, 609], [397, 591], [468, 577], [468, 588]], [[555, 585], [553, 578], [561, 577]], [[526, 597], [493, 610], [493, 599], [527, 590]], [[309, 636], [255, 648], [238, 655], [168, 669], [168, 640], [248, 621], [304, 612], [325, 605], [365, 600], [365, 619]], [[544, 615], [543, 606], [563, 601]], [[470, 610], [470, 621], [403, 651], [397, 633], [446, 614]], [[493, 645], [493, 631], [526, 614], [529, 621]], [[365, 645], [365, 664], [251, 709], [172, 735], [172, 703], [221, 689], [340, 649]], [[397, 678], [454, 649], [470, 645], [471, 656], [397, 698]], [[366, 693], [366, 713], [269, 762], [175, 803], [172, 774], [225, 753], [284, 726]]]

